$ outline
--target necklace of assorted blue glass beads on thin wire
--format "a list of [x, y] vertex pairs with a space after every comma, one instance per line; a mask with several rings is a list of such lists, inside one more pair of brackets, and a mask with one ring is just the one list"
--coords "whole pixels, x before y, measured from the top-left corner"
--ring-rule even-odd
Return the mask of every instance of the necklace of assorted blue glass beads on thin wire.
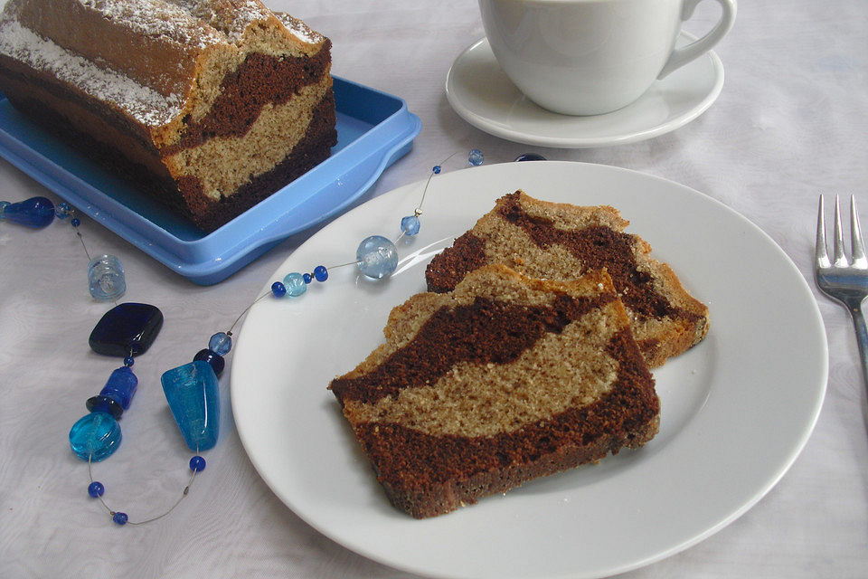
[[[439, 175], [442, 170], [441, 165], [451, 157], [454, 157], [454, 154], [431, 169], [431, 174], [422, 189], [420, 203], [413, 214], [401, 219], [401, 233], [394, 241], [382, 235], [366, 237], [356, 250], [355, 261], [331, 266], [331, 269], [355, 265], [364, 276], [374, 280], [392, 275], [398, 267], [396, 243], [405, 235], [415, 236], [420, 232], [422, 204], [430, 181], [434, 176]], [[533, 159], [519, 157], [516, 161], [518, 160]], [[472, 149], [467, 162], [470, 166], [482, 165], [484, 162], [482, 152]], [[123, 265], [117, 257], [108, 254], [90, 258], [90, 252], [79, 232], [80, 219], [75, 216], [75, 210], [68, 204], [61, 203], [55, 208], [51, 200], [45, 197], [33, 197], [16, 204], [0, 202], [0, 221], [12, 221], [41, 228], [52, 223], [55, 216], [61, 220], [71, 218], [73, 230], [88, 255], [91, 296], [98, 300], [113, 300], [116, 304], [93, 328], [89, 339], [90, 348], [98, 354], [123, 358], [123, 365], [109, 375], [108, 382], [99, 394], [88, 399], [86, 407], [89, 413], [72, 425], [69, 435], [71, 450], [81, 460], [87, 460], [90, 478], [88, 495], [99, 499], [112, 520], [121, 526], [144, 525], [165, 517], [180, 504], [181, 500], [188, 495], [196, 473], [205, 468], [205, 460], [200, 452], [211, 449], [217, 443], [220, 422], [218, 381], [225, 366], [223, 356], [231, 350], [232, 330], [259, 300], [269, 296], [297, 298], [307, 291], [307, 285], [314, 280], [325, 282], [328, 279], [329, 268], [317, 265], [309, 273], [292, 271], [283, 280], [275, 281], [268, 292], [263, 293], [244, 308], [227, 331], [215, 333], [209, 340], [208, 347], [196, 353], [192, 362], [167, 370], [161, 376], [160, 382], [163, 385], [166, 402], [184, 441], [195, 453], [189, 462], [192, 474], [181, 497], [172, 507], [156, 517], [131, 521], [125, 512], [113, 510], [106, 504], [103, 499], [106, 488], [99, 480], [93, 479], [92, 463], [105, 460], [118, 450], [122, 438], [118, 419], [129, 408], [138, 385], [138, 379], [132, 371], [135, 356], [144, 354], [153, 344], [163, 326], [163, 314], [156, 306], [148, 304], [117, 303], [117, 299], [127, 289]]]

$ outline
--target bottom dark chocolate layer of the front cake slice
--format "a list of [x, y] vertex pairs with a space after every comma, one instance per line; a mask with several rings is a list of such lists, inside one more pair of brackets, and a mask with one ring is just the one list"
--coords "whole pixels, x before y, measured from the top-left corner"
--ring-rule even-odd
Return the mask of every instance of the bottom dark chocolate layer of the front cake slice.
[[609, 394], [517, 431], [465, 437], [364, 422], [356, 437], [392, 503], [413, 517], [448, 512], [624, 447], [641, 447], [656, 434], [660, 403], [628, 331], [614, 337], [609, 349], [623, 361]]

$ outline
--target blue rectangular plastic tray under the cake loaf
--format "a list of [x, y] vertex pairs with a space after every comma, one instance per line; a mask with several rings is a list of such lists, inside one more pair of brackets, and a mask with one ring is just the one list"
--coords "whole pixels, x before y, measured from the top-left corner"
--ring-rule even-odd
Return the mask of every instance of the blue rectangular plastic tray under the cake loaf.
[[68, 147], [0, 95], [0, 156], [166, 267], [217, 283], [293, 233], [363, 195], [410, 151], [421, 121], [390, 94], [334, 77], [337, 145], [331, 157], [212, 233]]

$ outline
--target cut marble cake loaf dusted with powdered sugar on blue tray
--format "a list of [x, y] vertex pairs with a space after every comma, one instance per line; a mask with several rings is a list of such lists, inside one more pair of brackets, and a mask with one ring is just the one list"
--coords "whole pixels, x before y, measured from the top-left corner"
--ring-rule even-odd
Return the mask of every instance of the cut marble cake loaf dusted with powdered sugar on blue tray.
[[329, 156], [330, 50], [258, 0], [10, 0], [0, 91], [207, 232]]

